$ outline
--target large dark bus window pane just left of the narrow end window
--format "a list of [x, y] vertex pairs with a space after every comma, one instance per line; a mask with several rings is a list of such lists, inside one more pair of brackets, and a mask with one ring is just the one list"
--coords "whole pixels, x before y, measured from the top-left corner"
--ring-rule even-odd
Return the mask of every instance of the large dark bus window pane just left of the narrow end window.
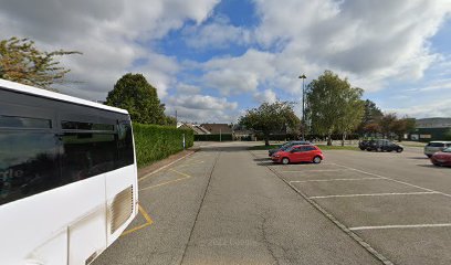
[[71, 183], [115, 169], [114, 134], [64, 132], [63, 181]]

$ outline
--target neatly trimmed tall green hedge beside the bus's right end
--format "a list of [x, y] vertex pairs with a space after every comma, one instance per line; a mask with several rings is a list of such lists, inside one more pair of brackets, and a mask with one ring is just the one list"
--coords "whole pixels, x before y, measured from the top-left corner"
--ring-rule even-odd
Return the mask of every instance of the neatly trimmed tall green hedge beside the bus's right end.
[[133, 124], [133, 134], [138, 168], [183, 150], [183, 134], [186, 148], [193, 145], [193, 132], [190, 129]]

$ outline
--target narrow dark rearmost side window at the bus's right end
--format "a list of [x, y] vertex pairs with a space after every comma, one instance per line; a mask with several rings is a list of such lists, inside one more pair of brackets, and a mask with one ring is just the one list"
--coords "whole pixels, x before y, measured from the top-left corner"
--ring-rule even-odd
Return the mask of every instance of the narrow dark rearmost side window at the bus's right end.
[[133, 134], [129, 121], [120, 121], [117, 126], [117, 168], [134, 163]]

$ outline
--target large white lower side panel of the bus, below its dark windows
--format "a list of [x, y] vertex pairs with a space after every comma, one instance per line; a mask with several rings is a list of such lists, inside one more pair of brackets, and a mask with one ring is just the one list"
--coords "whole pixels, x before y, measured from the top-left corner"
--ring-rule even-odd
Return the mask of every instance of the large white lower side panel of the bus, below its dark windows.
[[[76, 199], [76, 200], [74, 200]], [[101, 213], [101, 214], [97, 214]], [[69, 234], [69, 241], [75, 247], [85, 247], [88, 251], [74, 251], [76, 258], [85, 261], [92, 253], [101, 253], [106, 247], [106, 218], [105, 218], [105, 176], [63, 186], [59, 189], [44, 191], [8, 204], [0, 209], [0, 261], [2, 264], [24, 264], [25, 259], [41, 261], [55, 259], [60, 255], [56, 250], [42, 252], [42, 246], [51, 243], [67, 224], [75, 234]], [[99, 222], [98, 219], [103, 220]], [[81, 229], [86, 220], [93, 220], [88, 229]], [[78, 225], [78, 222], [80, 225]], [[91, 226], [93, 225], [93, 226]], [[93, 229], [95, 226], [95, 229]], [[93, 231], [96, 230], [94, 234]], [[81, 239], [83, 235], [83, 240]], [[81, 242], [83, 241], [83, 242]], [[59, 241], [60, 242], [60, 241]], [[41, 256], [36, 253], [48, 253], [51, 256]], [[71, 259], [72, 261], [72, 259]], [[81, 263], [77, 263], [81, 264]], [[82, 263], [84, 264], [84, 262]]]

